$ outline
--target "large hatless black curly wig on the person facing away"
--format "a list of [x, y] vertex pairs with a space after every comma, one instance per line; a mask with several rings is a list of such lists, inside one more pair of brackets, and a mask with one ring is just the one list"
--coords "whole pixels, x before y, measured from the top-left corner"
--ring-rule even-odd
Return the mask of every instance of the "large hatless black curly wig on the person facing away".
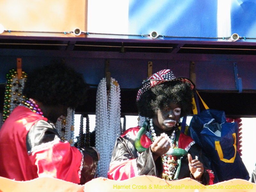
[[75, 109], [84, 103], [86, 90], [82, 74], [55, 60], [28, 74], [23, 95], [47, 106], [65, 105]]

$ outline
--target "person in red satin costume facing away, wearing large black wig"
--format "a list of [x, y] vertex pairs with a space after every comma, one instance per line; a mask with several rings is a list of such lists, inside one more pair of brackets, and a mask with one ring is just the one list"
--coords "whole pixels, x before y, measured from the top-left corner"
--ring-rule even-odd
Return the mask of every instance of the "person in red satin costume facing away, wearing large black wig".
[[78, 184], [94, 178], [96, 149], [71, 147], [54, 126], [68, 108], [83, 104], [86, 90], [82, 74], [58, 61], [28, 75], [23, 94], [29, 99], [14, 108], [0, 130], [1, 177], [52, 177]]

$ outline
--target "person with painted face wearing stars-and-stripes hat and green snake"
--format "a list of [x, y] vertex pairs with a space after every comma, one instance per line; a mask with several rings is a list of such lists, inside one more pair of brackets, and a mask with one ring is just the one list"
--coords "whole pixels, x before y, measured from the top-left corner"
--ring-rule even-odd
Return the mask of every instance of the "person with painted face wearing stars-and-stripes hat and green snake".
[[143, 83], [137, 107], [147, 120], [117, 138], [108, 179], [153, 175], [165, 180], [190, 177], [204, 185], [213, 184], [213, 173], [200, 147], [178, 128], [180, 117], [192, 109], [193, 89], [189, 79], [175, 78], [170, 69]]

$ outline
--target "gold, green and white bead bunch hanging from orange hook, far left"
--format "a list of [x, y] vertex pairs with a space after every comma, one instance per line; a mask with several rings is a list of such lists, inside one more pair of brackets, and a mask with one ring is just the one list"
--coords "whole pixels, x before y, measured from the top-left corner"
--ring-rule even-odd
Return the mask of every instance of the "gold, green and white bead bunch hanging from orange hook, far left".
[[6, 74], [7, 84], [4, 94], [3, 122], [12, 113], [13, 109], [25, 103], [25, 96], [22, 95], [27, 74], [22, 72], [20, 79], [17, 72], [12, 69]]

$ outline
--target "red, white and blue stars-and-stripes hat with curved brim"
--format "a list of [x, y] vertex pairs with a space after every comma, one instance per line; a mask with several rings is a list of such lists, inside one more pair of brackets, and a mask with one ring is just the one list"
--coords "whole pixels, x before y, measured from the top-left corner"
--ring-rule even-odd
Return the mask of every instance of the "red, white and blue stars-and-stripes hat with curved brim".
[[137, 93], [137, 101], [140, 100], [141, 95], [143, 95], [143, 93], [146, 92], [148, 89], [150, 89], [160, 83], [164, 83], [164, 82], [168, 82], [168, 81], [189, 82], [191, 89], [194, 89], [194, 87], [195, 87], [195, 85], [193, 84], [193, 82], [190, 79], [188, 79], [186, 77], [176, 78], [170, 69], [164, 69], [164, 70], [158, 71], [157, 73], [148, 77], [148, 79], [145, 81], [145, 83], [142, 84], [142, 86], [140, 87], [140, 89]]

